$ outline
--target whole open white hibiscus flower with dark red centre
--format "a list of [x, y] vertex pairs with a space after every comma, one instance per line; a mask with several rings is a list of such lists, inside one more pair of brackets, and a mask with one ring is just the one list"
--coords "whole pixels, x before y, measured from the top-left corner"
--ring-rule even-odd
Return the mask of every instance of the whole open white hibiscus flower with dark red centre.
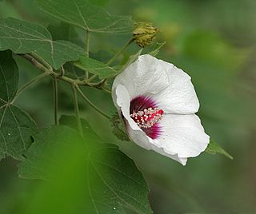
[[209, 144], [188, 74], [150, 55], [138, 57], [114, 80], [114, 105], [132, 141], [185, 165]]

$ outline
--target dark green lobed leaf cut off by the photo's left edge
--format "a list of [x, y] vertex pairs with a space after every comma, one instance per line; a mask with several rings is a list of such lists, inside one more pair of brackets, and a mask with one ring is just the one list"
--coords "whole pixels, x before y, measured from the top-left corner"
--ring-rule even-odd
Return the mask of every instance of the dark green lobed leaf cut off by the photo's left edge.
[[0, 160], [6, 155], [23, 160], [31, 135], [38, 131], [33, 119], [10, 103], [17, 88], [18, 67], [11, 52], [0, 52]]

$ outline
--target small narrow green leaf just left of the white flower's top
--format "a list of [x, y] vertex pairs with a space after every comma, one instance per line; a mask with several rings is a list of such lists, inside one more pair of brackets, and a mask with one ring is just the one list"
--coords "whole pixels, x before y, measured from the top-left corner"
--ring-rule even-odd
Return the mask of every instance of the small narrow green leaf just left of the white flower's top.
[[117, 71], [109, 65], [90, 57], [86, 57], [86, 55], [81, 55], [78, 61], [74, 61], [74, 65], [79, 69], [97, 74], [100, 79], [112, 77], [117, 73]]

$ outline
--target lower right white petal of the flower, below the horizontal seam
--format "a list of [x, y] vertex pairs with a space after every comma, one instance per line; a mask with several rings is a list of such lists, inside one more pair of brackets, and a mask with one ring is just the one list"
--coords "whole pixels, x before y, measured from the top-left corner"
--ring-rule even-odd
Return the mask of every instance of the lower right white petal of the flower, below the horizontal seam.
[[186, 158], [197, 157], [206, 150], [210, 137], [204, 132], [197, 115], [166, 114], [159, 122], [162, 134], [154, 140], [154, 144], [167, 153]]

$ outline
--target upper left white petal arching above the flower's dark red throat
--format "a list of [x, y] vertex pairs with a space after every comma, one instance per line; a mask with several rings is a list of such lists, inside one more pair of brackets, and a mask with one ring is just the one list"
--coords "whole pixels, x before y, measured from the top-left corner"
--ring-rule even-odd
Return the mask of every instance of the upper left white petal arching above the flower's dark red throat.
[[129, 65], [114, 79], [112, 90], [117, 85], [124, 85], [130, 94], [130, 98], [141, 95], [151, 96], [161, 92], [169, 85], [168, 75], [163, 63], [150, 55], [142, 55]]

